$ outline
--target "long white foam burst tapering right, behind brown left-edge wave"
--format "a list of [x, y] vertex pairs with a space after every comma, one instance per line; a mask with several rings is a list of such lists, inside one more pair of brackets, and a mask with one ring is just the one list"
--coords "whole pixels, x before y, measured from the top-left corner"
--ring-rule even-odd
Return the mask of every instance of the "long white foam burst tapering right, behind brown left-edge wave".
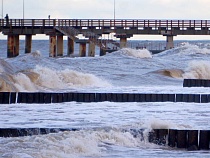
[[46, 88], [66, 89], [72, 87], [106, 87], [110, 86], [93, 74], [82, 73], [74, 70], [56, 71], [47, 67], [37, 66], [33, 72], [39, 74], [36, 84]]

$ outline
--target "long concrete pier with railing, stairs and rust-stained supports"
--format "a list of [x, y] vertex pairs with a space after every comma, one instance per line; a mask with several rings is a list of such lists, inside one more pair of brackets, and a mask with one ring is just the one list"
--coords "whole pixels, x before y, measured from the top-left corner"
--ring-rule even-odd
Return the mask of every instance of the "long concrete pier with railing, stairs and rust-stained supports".
[[[210, 20], [139, 20], [139, 19], [0, 19], [0, 32], [7, 35], [7, 56], [19, 55], [19, 36], [25, 35], [25, 53], [31, 52], [32, 36], [49, 36], [49, 56], [63, 56], [63, 37], [68, 37], [67, 55], [74, 53], [74, 44], [79, 43], [79, 56], [95, 56], [95, 47], [100, 55], [112, 48], [127, 47], [127, 39], [134, 35], [162, 35], [166, 37], [166, 49], [174, 47], [174, 36], [209, 35]], [[104, 34], [114, 34], [119, 39], [103, 39]], [[85, 39], [79, 38], [83, 35]]]

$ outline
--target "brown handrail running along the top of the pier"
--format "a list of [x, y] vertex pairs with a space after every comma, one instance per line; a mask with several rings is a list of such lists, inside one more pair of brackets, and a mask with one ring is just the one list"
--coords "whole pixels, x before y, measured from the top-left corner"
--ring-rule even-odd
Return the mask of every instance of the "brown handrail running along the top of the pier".
[[210, 28], [210, 20], [144, 19], [0, 19], [0, 27], [123, 27], [123, 28]]

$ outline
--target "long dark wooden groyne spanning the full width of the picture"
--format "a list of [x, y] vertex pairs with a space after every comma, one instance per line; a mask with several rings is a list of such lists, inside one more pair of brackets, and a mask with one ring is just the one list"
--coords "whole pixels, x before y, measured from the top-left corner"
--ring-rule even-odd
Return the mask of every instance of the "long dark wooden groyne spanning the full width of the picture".
[[0, 92], [0, 104], [51, 104], [63, 102], [87, 103], [104, 101], [209, 103], [210, 94]]

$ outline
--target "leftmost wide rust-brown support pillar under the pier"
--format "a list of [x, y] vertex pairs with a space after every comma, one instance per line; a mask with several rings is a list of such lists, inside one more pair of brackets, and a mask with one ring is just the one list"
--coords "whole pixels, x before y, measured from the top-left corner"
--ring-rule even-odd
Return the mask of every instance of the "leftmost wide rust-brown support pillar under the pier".
[[19, 55], [19, 35], [8, 35], [7, 57], [12, 58]]

